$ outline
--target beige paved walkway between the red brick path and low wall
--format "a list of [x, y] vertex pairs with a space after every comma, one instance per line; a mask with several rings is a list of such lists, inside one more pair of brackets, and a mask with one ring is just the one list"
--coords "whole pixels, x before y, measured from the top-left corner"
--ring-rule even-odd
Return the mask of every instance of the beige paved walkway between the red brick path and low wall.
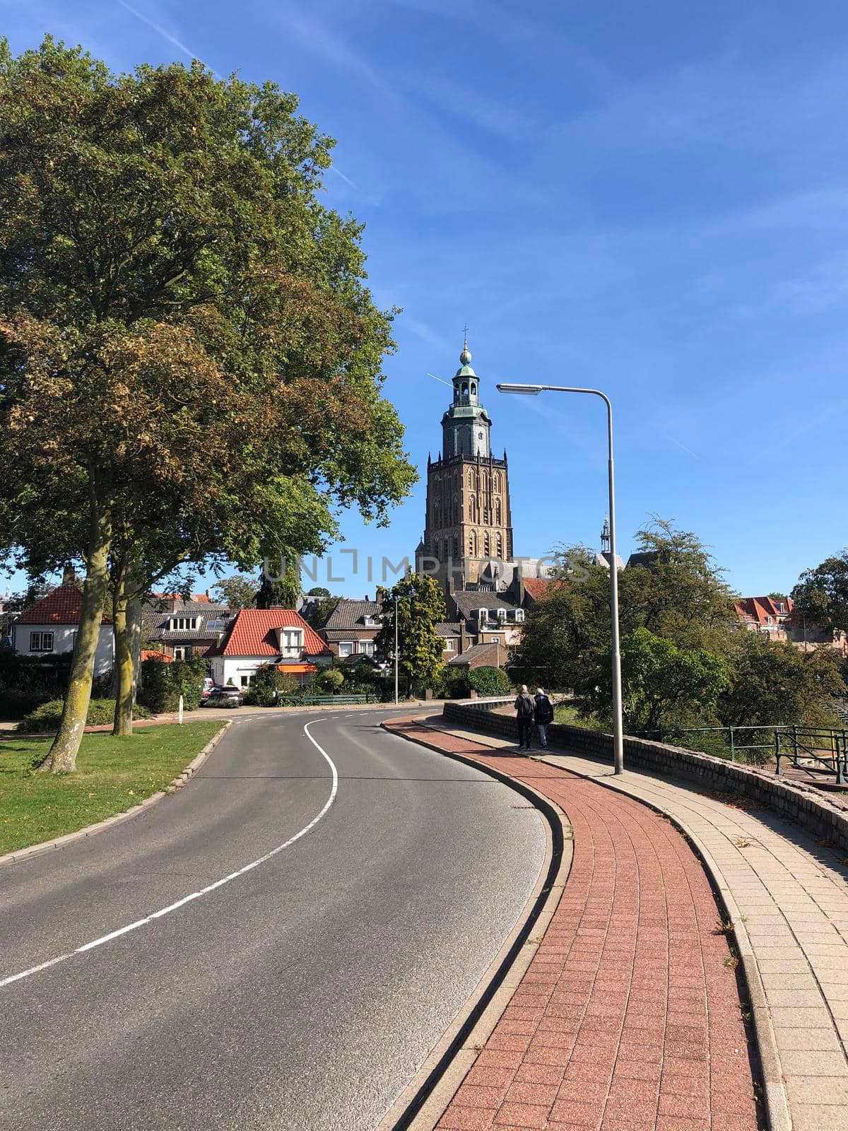
[[[470, 735], [469, 731], [452, 734]], [[502, 740], [474, 734], [488, 749]], [[848, 860], [765, 809], [684, 784], [551, 753], [546, 761], [614, 784], [668, 812], [711, 858], [743, 955], [764, 991], [795, 1131], [848, 1129]]]

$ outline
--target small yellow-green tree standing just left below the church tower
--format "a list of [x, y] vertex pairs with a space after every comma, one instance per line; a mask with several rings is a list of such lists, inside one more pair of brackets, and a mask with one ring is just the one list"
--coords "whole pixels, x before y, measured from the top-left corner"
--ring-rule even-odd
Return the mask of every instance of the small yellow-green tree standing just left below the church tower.
[[444, 597], [432, 577], [409, 573], [391, 589], [382, 590], [382, 608], [383, 624], [377, 636], [377, 650], [393, 661], [397, 611], [398, 672], [408, 698], [415, 683], [432, 685], [441, 674], [442, 639], [435, 625], [445, 618]]

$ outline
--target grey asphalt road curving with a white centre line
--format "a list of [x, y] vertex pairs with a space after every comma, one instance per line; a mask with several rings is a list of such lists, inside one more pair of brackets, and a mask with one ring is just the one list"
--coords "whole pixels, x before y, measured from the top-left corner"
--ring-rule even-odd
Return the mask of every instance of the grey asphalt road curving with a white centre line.
[[0, 867], [0, 983], [61, 959], [0, 985], [0, 1126], [379, 1122], [544, 856], [522, 798], [386, 717], [241, 720], [148, 812]]

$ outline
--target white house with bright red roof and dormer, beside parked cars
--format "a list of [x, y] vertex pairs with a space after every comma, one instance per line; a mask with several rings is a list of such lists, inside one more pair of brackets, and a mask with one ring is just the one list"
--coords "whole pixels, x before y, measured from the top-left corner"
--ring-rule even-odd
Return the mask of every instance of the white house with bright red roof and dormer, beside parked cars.
[[219, 644], [206, 653], [217, 684], [246, 688], [258, 667], [274, 664], [305, 683], [330, 662], [330, 651], [293, 608], [242, 608]]

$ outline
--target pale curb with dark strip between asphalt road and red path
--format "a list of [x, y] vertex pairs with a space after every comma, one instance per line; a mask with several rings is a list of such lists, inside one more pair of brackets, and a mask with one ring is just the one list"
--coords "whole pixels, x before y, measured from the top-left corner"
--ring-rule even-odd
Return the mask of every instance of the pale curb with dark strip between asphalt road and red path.
[[[423, 720], [419, 722], [426, 725]], [[545, 860], [539, 878], [516, 925], [453, 1021], [375, 1128], [375, 1131], [433, 1131], [527, 973], [536, 955], [538, 946], [536, 936], [545, 933], [556, 912], [571, 871], [573, 835], [565, 813], [556, 802], [523, 782], [484, 766], [475, 758], [443, 750], [425, 739], [412, 737], [395, 731], [387, 723], [381, 723], [380, 726], [389, 734], [494, 777], [531, 801], [534, 808], [545, 818]], [[559, 829], [555, 826], [559, 826]], [[525, 933], [526, 938], [521, 942], [521, 935]], [[486, 1001], [490, 992], [491, 995]], [[476, 1021], [473, 1021], [475, 1013], [478, 1016]]]

